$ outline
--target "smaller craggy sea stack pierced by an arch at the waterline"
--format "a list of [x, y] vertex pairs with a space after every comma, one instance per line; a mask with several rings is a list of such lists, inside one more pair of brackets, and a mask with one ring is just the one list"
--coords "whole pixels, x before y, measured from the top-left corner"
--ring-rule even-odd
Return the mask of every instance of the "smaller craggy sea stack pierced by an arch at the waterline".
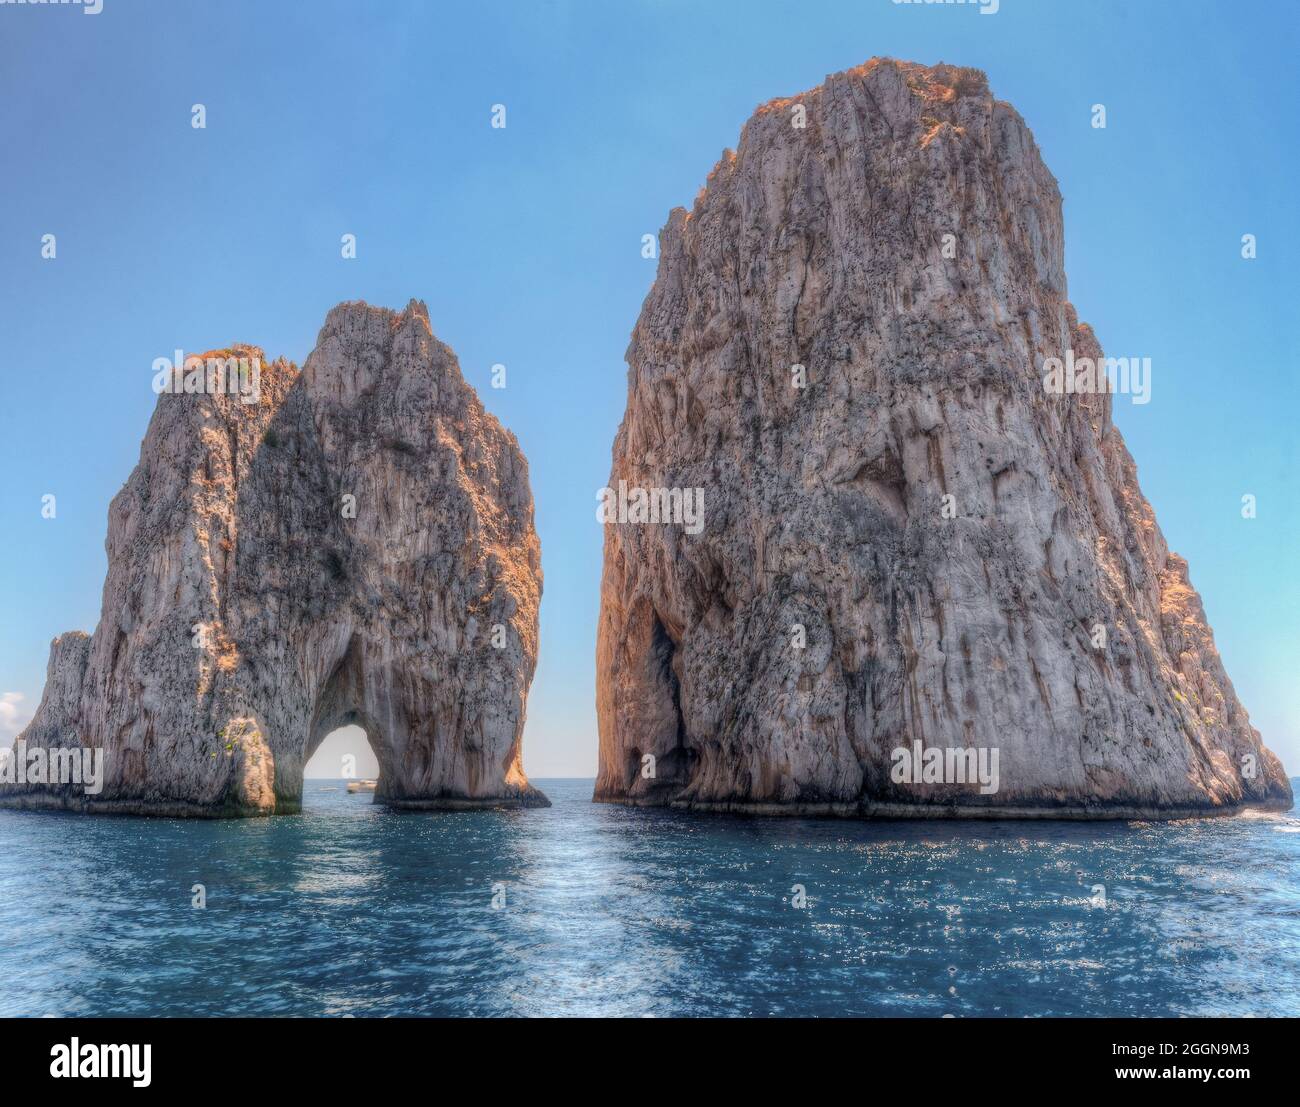
[[542, 586], [528, 466], [424, 304], [334, 308], [302, 372], [263, 365], [257, 391], [159, 396], [109, 508], [99, 628], [55, 639], [17, 743], [103, 747], [103, 791], [5, 800], [295, 811], [312, 751], [358, 724], [380, 803], [545, 806], [520, 755]]

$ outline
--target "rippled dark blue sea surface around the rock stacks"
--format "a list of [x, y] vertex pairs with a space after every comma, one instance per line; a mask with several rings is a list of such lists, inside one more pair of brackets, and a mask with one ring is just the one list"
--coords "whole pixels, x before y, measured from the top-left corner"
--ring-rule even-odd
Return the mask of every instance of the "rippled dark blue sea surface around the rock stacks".
[[1295, 813], [753, 820], [538, 783], [547, 811], [335, 781], [276, 819], [0, 811], [0, 1015], [1300, 1015]]

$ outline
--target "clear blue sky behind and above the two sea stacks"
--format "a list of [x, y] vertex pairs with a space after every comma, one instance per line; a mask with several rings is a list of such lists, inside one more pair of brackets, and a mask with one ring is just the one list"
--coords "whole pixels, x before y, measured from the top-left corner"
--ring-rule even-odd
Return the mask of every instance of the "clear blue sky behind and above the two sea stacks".
[[654, 278], [641, 235], [690, 205], [758, 104], [890, 55], [984, 69], [1034, 130], [1080, 318], [1153, 361], [1152, 401], [1115, 404], [1143, 489], [1300, 772], [1292, 5], [464, 8], [0, 6], [0, 735], [39, 700], [49, 639], [98, 621], [153, 359], [239, 340], [302, 363], [339, 300], [415, 296], [532, 468], [546, 592], [525, 768], [594, 774], [594, 492]]

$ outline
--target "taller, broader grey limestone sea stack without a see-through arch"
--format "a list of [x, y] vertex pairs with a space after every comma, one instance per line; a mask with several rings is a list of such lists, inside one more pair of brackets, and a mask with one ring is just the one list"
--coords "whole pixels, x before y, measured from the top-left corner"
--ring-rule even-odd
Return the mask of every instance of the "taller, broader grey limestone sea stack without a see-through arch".
[[[1122, 398], [1044, 386], [1067, 351], [1101, 356], [1061, 196], [982, 73], [880, 58], [760, 108], [670, 216], [628, 351], [610, 487], [698, 489], [703, 528], [607, 525], [595, 798], [1290, 807]], [[933, 748], [996, 752], [996, 790], [896, 754]]]

